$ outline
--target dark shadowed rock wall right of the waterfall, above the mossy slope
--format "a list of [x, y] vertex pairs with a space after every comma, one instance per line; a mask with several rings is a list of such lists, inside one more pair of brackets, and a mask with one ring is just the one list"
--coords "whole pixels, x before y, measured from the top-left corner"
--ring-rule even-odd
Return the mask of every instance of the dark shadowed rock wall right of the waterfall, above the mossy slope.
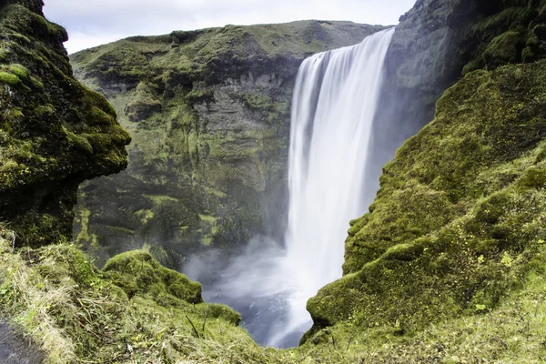
[[436, 101], [460, 76], [546, 55], [543, 6], [534, 0], [419, 0], [401, 16], [374, 126], [370, 183], [394, 157], [392, 146], [433, 119]]

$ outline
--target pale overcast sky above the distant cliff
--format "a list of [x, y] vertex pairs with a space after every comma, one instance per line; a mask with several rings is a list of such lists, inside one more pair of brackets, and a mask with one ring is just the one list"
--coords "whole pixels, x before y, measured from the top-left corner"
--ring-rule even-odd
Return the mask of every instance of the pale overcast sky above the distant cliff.
[[45, 16], [66, 27], [69, 53], [131, 35], [212, 26], [351, 20], [395, 25], [415, 0], [45, 0]]

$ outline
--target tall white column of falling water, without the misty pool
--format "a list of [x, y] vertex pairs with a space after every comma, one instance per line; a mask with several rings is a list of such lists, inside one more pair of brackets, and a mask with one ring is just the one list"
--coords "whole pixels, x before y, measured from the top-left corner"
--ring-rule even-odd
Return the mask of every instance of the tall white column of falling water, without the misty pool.
[[372, 121], [393, 29], [359, 45], [312, 56], [299, 68], [292, 104], [286, 269], [298, 294], [292, 329], [306, 301], [341, 277], [349, 220], [375, 195], [364, 186]]

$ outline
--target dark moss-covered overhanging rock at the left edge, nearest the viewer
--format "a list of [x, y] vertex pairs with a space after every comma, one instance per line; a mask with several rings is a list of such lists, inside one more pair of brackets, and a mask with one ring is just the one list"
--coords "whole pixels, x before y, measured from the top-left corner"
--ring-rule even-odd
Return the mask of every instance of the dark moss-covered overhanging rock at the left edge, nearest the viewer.
[[42, 5], [0, 3], [0, 224], [31, 246], [71, 237], [79, 183], [126, 167], [130, 140], [72, 76], [66, 31]]

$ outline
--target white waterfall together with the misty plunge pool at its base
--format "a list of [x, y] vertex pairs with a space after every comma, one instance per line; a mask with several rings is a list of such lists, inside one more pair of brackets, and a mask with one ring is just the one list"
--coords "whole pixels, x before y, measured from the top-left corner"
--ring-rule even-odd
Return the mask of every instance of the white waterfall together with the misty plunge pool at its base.
[[[375, 185], [366, 186], [366, 165], [393, 33], [370, 35], [359, 45], [311, 56], [300, 66], [284, 241], [253, 239], [218, 271], [213, 285], [204, 287], [207, 301], [226, 303], [243, 315], [260, 344], [298, 345], [311, 326], [308, 298], [341, 277], [349, 220], [364, 214], [376, 192]], [[189, 259], [186, 273], [203, 277], [217, 255]]]

